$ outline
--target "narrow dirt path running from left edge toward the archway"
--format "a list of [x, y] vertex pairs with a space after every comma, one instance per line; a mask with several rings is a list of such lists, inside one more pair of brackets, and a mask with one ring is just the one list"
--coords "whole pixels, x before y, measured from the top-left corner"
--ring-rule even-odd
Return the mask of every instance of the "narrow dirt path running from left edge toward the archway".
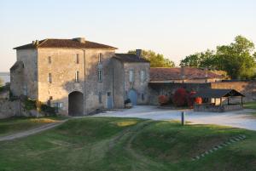
[[65, 123], [66, 121], [67, 121], [67, 119], [63, 120], [63, 121], [56, 122], [56, 123], [49, 123], [49, 124], [43, 125], [43, 126], [38, 127], [38, 128], [32, 128], [30, 130], [26, 130], [26, 131], [23, 131], [23, 132], [20, 132], [20, 133], [6, 135], [6, 136], [3, 136], [3, 137], [0, 137], [0, 141], [15, 140], [15, 139], [19, 139], [19, 138], [22, 138], [22, 137], [29, 136], [31, 134], [37, 134], [37, 133], [40, 133], [44, 130], [47, 130], [47, 129], [50, 129], [50, 128], [55, 128], [56, 126], [59, 126], [62, 123]]

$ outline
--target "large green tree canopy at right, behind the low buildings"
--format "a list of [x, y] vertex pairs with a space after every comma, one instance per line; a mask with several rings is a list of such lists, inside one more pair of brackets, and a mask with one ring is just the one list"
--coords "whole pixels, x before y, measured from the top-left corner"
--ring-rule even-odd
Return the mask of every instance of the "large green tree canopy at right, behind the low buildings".
[[190, 54], [181, 60], [180, 66], [223, 70], [231, 78], [255, 77], [254, 44], [246, 37], [237, 36], [234, 43], [218, 46], [216, 51], [207, 49], [206, 52]]

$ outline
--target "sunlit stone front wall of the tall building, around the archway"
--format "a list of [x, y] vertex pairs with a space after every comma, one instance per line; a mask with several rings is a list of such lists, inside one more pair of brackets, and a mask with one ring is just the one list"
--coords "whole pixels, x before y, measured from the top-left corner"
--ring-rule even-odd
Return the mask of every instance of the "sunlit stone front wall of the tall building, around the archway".
[[[98, 55], [102, 54], [102, 64], [98, 65]], [[38, 100], [46, 103], [61, 103], [61, 113], [67, 115], [68, 94], [79, 91], [84, 94], [84, 115], [107, 107], [107, 94], [113, 94], [113, 68], [110, 58], [114, 50], [106, 49], [38, 49]], [[79, 55], [79, 64], [77, 63]], [[49, 64], [49, 56], [51, 62]], [[85, 67], [84, 67], [85, 66]], [[102, 67], [102, 82], [98, 82], [98, 68]], [[75, 83], [75, 73], [79, 71], [79, 83]], [[49, 73], [52, 83], [49, 83]], [[102, 103], [99, 94], [102, 94]]]

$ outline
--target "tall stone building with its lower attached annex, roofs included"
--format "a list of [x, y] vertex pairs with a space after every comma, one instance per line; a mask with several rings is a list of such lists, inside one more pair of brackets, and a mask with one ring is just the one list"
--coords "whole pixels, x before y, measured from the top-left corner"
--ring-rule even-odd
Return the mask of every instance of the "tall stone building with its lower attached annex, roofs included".
[[81, 116], [103, 108], [148, 104], [149, 62], [136, 54], [83, 37], [44, 39], [15, 48], [10, 68], [12, 95], [55, 106], [63, 115]]

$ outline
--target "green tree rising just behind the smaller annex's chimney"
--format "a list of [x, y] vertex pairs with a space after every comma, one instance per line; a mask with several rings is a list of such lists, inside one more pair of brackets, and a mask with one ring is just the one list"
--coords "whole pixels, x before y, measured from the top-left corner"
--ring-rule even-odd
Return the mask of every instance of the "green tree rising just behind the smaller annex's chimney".
[[[129, 50], [128, 54], [136, 54], [136, 50]], [[150, 61], [151, 67], [174, 67], [172, 60], [164, 57], [163, 54], [156, 54], [152, 50], [143, 50], [143, 58]]]

